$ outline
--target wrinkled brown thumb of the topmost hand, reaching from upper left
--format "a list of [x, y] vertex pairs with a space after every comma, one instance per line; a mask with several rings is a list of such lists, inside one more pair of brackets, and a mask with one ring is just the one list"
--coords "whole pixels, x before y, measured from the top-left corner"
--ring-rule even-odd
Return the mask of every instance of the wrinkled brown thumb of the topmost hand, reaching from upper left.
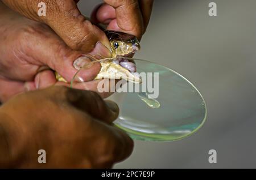
[[98, 41], [107, 48], [110, 47], [105, 33], [81, 15], [76, 1], [44, 1], [46, 5], [45, 16], [38, 15], [38, 3], [40, 1], [20, 0], [14, 2], [4, 0], [3, 2], [27, 18], [49, 25], [74, 50], [90, 52]]

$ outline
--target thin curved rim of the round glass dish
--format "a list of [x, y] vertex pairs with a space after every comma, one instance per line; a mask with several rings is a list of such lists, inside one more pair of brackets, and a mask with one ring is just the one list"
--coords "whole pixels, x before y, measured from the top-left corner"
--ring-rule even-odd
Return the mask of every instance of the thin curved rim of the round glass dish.
[[[138, 59], [138, 58], [127, 58], [127, 57], [121, 57], [121, 58], [125, 58], [125, 59], [128, 59], [128, 60], [135, 60], [135, 61], [138, 60], [138, 61], [144, 61], [144, 62], [148, 62], [148, 63], [154, 63], [155, 65], [161, 66], [161, 67], [163, 67], [163, 68], [167, 68], [168, 70], [170, 70], [170, 71], [173, 72], [174, 74], [179, 75], [179, 76], [180, 76], [181, 78], [183, 78], [186, 82], [188, 82], [193, 88], [195, 88], [196, 91], [199, 93], [200, 97], [202, 98], [203, 103], [204, 103], [204, 106], [205, 106], [205, 115], [204, 115], [203, 121], [202, 121], [202, 122], [200, 123], [200, 125], [199, 125], [197, 128], [195, 128], [195, 130], [193, 130], [190, 134], [180, 136], [179, 138], [174, 139], [174, 140], [165, 140], [165, 139], [163, 139], [163, 140], [159, 140], [159, 139], [154, 140], [154, 139], [147, 139], [147, 137], [150, 138], [151, 136], [148, 135], [148, 134], [143, 134], [142, 136], [145, 137], [145, 138], [143, 138], [144, 141], [153, 141], [153, 142], [175, 142], [175, 141], [177, 141], [177, 140], [181, 140], [181, 139], [184, 139], [184, 138], [188, 138], [189, 136], [195, 134], [195, 132], [197, 132], [201, 127], [204, 126], [204, 123], [205, 123], [205, 121], [206, 121], [206, 119], [207, 119], [207, 104], [206, 104], [206, 102], [205, 102], [205, 100], [204, 100], [204, 97], [201, 95], [200, 91], [199, 91], [199, 90], [195, 87], [195, 85], [193, 85], [187, 78], [185, 78], [183, 75], [180, 75], [178, 72], [172, 70], [171, 68], [168, 68], [168, 67], [166, 67], [166, 66], [160, 65], [159, 63], [155, 63], [155, 62], [148, 61], [148, 60], [145, 60], [145, 59]], [[97, 59], [96, 61], [92, 61], [92, 62], [89, 62], [89, 63], [104, 62], [104, 61], [114, 60], [114, 59], [117, 59], [117, 58]], [[72, 79], [72, 81], [71, 81], [71, 88], [72, 88], [73, 80], [75, 79], [76, 75], [80, 72], [80, 70], [82, 70], [82, 68], [83, 68], [83, 67], [81, 67], [81, 68], [76, 72], [76, 74], [74, 75], [74, 77], [73, 77], [73, 79]], [[122, 130], [126, 131], [128, 134], [131, 134], [132, 136], [136, 136], [136, 135], [137, 135], [136, 133], [134, 133], [134, 132], [137, 132], [137, 131], [129, 130], [128, 128], [124, 128], [124, 127], [122, 127], [122, 126], [118, 126], [118, 125], [115, 124], [115, 123], [114, 123], [114, 125], [117, 126], [118, 128], [121, 128]], [[137, 132], [137, 133], [138, 133], [138, 132]], [[139, 133], [141, 133], [141, 132], [139, 132]], [[139, 134], [138, 134], [138, 136], [139, 136]], [[165, 135], [160, 135], [160, 136], [165, 136]], [[166, 135], [166, 136], [168, 137], [168, 135]], [[136, 139], [136, 137], [135, 137], [135, 139]], [[142, 139], [139, 139], [139, 138], [138, 138], [138, 139], [136, 139], [136, 140], [142, 140]]]

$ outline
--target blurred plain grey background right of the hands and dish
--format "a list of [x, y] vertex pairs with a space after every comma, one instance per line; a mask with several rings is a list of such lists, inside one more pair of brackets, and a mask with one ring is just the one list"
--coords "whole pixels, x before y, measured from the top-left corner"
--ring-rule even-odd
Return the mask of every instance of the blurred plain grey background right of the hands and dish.
[[[81, 1], [90, 15], [100, 0]], [[217, 3], [217, 17], [208, 15]], [[135, 141], [114, 168], [256, 168], [256, 1], [156, 0], [135, 57], [170, 67], [204, 96], [205, 125], [169, 143]], [[217, 164], [208, 151], [216, 149]]]

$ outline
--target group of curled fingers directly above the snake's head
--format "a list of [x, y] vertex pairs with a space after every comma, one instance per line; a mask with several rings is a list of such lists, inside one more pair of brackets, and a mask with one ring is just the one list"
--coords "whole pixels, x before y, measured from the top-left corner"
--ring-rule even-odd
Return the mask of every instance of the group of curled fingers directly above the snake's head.
[[104, 0], [91, 16], [93, 23], [107, 25], [107, 29], [129, 33], [141, 39], [146, 31], [153, 0]]

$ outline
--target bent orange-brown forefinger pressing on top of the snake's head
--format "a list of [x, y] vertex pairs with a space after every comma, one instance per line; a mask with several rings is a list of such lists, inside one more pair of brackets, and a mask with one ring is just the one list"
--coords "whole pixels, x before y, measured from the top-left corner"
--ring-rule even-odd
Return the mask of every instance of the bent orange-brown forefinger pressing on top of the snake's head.
[[[143, 34], [143, 19], [137, 0], [112, 1], [104, 0], [115, 8], [116, 21], [110, 22], [108, 29], [129, 33], [138, 38]], [[119, 28], [119, 29], [118, 29]]]

